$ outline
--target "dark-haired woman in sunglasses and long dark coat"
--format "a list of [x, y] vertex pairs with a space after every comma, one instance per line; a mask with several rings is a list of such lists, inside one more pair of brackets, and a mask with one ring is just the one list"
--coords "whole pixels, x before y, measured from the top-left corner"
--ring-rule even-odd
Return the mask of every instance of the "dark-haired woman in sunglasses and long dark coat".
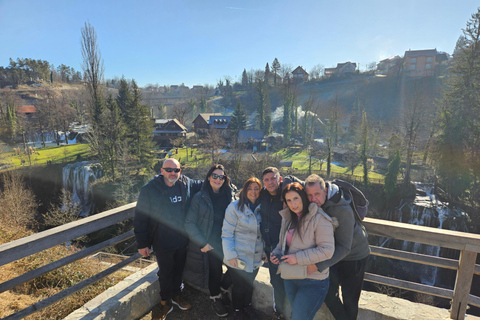
[[219, 317], [228, 315], [222, 293], [226, 296], [231, 279], [228, 272], [223, 276], [221, 236], [225, 209], [234, 200], [235, 191], [223, 165], [213, 165], [202, 190], [193, 197], [185, 219], [190, 247], [184, 278], [199, 287], [208, 285], [212, 308]]

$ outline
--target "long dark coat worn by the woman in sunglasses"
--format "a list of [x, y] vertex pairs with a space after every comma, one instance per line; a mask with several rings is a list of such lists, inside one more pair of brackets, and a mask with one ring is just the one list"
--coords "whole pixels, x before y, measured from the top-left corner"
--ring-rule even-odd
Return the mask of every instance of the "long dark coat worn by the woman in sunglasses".
[[[227, 187], [225, 195], [230, 196], [229, 202], [235, 200], [235, 192], [234, 187]], [[207, 186], [204, 185], [202, 190], [193, 196], [185, 218], [185, 230], [190, 238], [190, 244], [183, 272], [185, 281], [201, 288], [208, 288], [209, 270], [208, 256], [200, 249], [207, 244], [213, 228], [213, 219], [212, 200]], [[221, 239], [219, 242], [222, 242]]]

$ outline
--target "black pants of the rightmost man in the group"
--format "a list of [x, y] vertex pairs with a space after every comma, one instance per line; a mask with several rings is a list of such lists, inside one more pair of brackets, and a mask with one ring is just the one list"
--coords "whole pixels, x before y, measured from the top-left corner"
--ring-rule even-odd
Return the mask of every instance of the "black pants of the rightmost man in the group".
[[[337, 320], [354, 320], [358, 314], [358, 300], [362, 292], [363, 276], [368, 257], [355, 261], [340, 261], [330, 267], [330, 287], [325, 304]], [[338, 287], [342, 287], [343, 303]]]

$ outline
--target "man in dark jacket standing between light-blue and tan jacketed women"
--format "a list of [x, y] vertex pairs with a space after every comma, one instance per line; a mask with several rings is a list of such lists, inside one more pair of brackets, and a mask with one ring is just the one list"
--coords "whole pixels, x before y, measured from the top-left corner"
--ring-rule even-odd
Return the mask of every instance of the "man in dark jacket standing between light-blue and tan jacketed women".
[[[260, 215], [262, 222], [263, 241], [265, 243], [265, 254], [270, 258], [270, 253], [278, 244], [282, 217], [278, 213], [283, 209], [282, 189], [289, 183], [302, 181], [294, 176], [287, 176], [283, 179], [275, 167], [265, 168], [262, 172], [263, 189], [260, 191]], [[277, 274], [278, 265], [268, 264], [270, 283], [273, 287], [273, 319], [283, 319], [285, 313], [285, 287], [283, 279]]]

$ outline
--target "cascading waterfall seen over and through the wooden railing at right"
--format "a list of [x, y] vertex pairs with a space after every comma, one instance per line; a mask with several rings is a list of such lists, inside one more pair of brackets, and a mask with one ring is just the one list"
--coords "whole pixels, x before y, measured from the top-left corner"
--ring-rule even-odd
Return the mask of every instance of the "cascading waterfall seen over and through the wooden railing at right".
[[[402, 200], [400, 205], [389, 211], [385, 220], [404, 222], [414, 225], [468, 232], [468, 215], [448, 203], [438, 200], [432, 184], [415, 182], [417, 189], [414, 199]], [[404, 250], [432, 256], [440, 255], [440, 247], [414, 243], [410, 241], [380, 238], [379, 245], [392, 249]], [[398, 261], [403, 272], [418, 276], [423, 284], [435, 285], [438, 268]], [[414, 270], [410, 270], [415, 268]]]

